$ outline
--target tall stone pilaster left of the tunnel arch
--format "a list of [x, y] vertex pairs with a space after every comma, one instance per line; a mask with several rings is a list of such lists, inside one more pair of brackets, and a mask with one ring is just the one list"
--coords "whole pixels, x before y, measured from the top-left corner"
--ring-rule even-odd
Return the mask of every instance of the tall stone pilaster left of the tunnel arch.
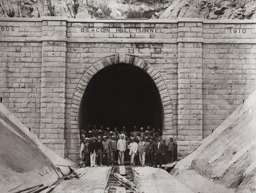
[[40, 140], [64, 158], [67, 22], [58, 17], [42, 19]]

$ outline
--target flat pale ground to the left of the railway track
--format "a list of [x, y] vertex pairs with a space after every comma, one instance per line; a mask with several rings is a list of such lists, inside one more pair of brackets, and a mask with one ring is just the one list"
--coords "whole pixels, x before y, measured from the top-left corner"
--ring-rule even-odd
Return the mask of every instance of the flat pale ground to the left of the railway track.
[[80, 179], [61, 182], [51, 193], [103, 193], [111, 167], [85, 167]]

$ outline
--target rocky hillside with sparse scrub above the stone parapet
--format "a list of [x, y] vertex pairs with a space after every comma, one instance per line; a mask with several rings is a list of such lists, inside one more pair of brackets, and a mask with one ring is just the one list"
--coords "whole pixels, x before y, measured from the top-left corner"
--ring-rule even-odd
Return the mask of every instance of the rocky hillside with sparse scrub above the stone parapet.
[[254, 19], [256, 0], [0, 0], [0, 17]]

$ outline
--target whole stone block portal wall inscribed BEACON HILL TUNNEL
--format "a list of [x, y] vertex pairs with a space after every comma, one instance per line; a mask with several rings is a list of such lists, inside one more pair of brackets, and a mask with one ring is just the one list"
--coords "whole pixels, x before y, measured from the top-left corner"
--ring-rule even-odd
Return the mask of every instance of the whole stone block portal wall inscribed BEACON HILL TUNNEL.
[[86, 84], [117, 59], [156, 73], [163, 138], [178, 141], [179, 159], [255, 90], [255, 19], [43, 17], [1, 18], [0, 25], [2, 102], [45, 145], [73, 160]]

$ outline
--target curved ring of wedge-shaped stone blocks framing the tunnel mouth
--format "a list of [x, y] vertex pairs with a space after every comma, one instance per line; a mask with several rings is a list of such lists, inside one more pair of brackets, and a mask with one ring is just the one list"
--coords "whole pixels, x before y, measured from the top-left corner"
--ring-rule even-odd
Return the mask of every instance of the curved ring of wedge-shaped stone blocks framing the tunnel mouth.
[[145, 60], [143, 60], [138, 56], [132, 56], [127, 54], [117, 54], [117, 55], [107, 56], [103, 59], [100, 59], [96, 63], [92, 64], [90, 68], [88, 68], [84, 72], [84, 75], [80, 79], [72, 99], [70, 117], [69, 117], [69, 128], [78, 129], [77, 125], [78, 125], [79, 107], [81, 104], [83, 94], [85, 92], [85, 88], [88, 85], [91, 78], [93, 77], [93, 75], [109, 65], [118, 64], [118, 63], [127, 63], [127, 64], [138, 66], [150, 75], [150, 77], [154, 80], [157, 86], [157, 89], [159, 91], [159, 94], [162, 100], [162, 104], [164, 108], [163, 109], [164, 110], [163, 112], [164, 113], [164, 117], [163, 117], [164, 129], [166, 130], [167, 127], [172, 127], [172, 102], [168, 93], [168, 89], [159, 72], [154, 68], [154, 66], [152, 66], [151, 64], [149, 64], [148, 62], [146, 62]]

